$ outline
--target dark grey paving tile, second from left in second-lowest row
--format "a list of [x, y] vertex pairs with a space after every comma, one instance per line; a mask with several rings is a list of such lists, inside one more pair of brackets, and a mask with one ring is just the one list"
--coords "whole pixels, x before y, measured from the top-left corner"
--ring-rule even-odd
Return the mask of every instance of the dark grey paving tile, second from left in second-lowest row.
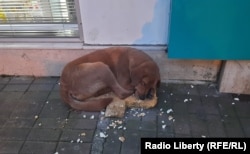
[[27, 137], [28, 141], [58, 141], [61, 130], [36, 128], [32, 129]]

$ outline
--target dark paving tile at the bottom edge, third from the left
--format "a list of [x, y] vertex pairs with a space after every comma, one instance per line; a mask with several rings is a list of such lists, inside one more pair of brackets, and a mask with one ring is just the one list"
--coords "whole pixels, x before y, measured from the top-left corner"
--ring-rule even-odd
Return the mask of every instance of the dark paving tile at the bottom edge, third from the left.
[[56, 152], [59, 154], [89, 154], [90, 149], [90, 143], [59, 142]]

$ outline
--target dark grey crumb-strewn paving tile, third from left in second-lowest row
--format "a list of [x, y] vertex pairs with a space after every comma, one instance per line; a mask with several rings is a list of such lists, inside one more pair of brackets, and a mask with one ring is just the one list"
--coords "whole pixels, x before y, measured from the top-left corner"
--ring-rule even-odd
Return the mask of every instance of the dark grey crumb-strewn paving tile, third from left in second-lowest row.
[[91, 143], [94, 136], [94, 130], [63, 130], [60, 141], [62, 142], [77, 142], [80, 139], [82, 142]]

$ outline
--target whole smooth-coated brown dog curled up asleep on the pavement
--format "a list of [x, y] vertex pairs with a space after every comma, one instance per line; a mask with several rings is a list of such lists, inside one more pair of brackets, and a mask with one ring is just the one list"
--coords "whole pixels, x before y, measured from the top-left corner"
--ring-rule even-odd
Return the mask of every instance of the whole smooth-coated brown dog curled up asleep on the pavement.
[[112, 47], [68, 63], [61, 74], [60, 93], [76, 110], [100, 111], [112, 98], [97, 96], [112, 91], [121, 99], [133, 93], [151, 99], [159, 83], [159, 68], [151, 57], [134, 48]]

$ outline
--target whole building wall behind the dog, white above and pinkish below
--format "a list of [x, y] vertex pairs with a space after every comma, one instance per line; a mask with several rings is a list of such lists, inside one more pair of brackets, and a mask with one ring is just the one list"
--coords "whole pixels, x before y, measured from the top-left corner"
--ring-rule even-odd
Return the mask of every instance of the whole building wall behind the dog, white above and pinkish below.
[[[0, 75], [60, 76], [65, 64], [79, 56], [107, 46], [129, 45], [143, 49], [157, 62], [162, 82], [218, 81], [220, 60], [168, 58], [164, 47], [170, 0], [79, 0], [79, 7], [84, 42], [0, 42]], [[220, 91], [250, 94], [249, 84], [245, 84], [249, 82], [249, 62], [245, 63], [247, 67], [242, 69], [241, 62], [227, 61]]]

